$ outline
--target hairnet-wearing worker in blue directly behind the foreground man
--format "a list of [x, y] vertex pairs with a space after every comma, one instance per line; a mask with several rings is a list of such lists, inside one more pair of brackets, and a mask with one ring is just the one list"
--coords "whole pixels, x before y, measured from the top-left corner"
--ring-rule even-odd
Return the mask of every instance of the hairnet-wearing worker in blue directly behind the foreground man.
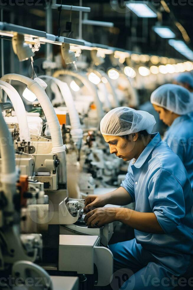
[[151, 103], [169, 126], [163, 140], [183, 162], [193, 189], [193, 95], [181, 86], [166, 84], [151, 94]]

